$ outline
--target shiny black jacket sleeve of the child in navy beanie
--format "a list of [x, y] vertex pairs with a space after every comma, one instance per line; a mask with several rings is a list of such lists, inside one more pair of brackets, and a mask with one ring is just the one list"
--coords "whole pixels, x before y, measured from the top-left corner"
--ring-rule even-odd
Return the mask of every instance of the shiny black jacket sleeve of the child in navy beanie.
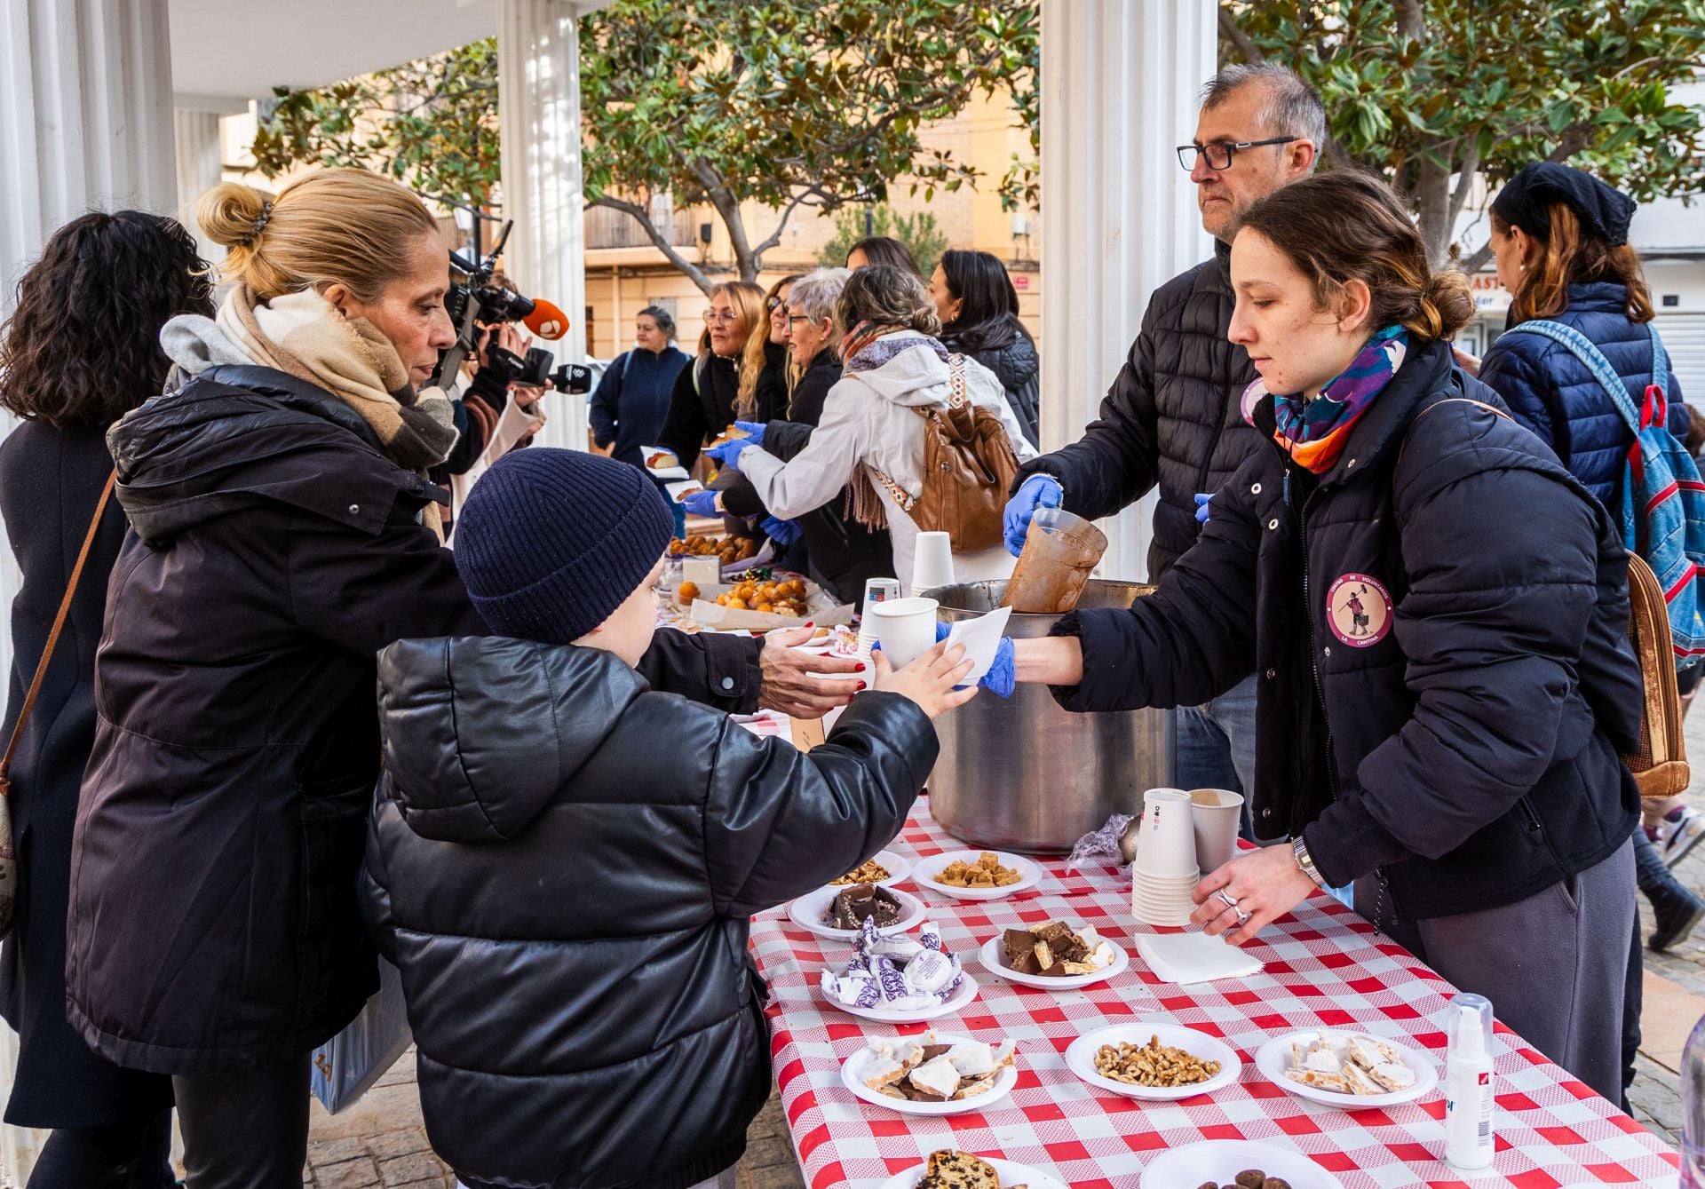
[[852, 870], [912, 812], [939, 744], [907, 698], [859, 694], [829, 742], [801, 752], [726, 723], [704, 807], [713, 901], [750, 916]]

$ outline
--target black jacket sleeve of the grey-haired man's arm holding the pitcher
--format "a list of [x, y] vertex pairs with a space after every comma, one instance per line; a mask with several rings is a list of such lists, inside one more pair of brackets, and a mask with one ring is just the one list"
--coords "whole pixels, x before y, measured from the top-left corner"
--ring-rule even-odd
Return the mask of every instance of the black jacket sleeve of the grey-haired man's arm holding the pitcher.
[[1066, 510], [1081, 517], [1113, 515], [1159, 479], [1154, 411], [1154, 339], [1149, 316], [1130, 355], [1107, 389], [1101, 416], [1071, 445], [1018, 467], [1013, 491], [1032, 474], [1052, 474], [1066, 490]]

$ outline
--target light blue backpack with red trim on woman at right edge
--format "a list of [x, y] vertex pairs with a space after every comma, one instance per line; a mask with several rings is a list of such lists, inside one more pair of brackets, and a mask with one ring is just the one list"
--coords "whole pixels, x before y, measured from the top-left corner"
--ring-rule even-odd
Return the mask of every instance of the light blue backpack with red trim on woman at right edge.
[[1523, 322], [1506, 334], [1543, 334], [1581, 360], [1621, 415], [1633, 445], [1621, 474], [1621, 536], [1630, 553], [1652, 568], [1669, 611], [1676, 667], [1705, 658], [1705, 483], [1698, 466], [1667, 428], [1669, 387], [1664, 345], [1652, 334], [1652, 382], [1640, 408], [1604, 353], [1572, 326], [1550, 321]]

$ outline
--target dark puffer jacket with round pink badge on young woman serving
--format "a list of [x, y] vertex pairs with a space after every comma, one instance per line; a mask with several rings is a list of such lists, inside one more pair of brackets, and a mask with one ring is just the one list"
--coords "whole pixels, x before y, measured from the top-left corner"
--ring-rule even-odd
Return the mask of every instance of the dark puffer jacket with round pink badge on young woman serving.
[[1263, 401], [1263, 449], [1159, 590], [1061, 621], [1072, 710], [1199, 703], [1253, 669], [1258, 832], [1303, 832], [1333, 885], [1378, 870], [1407, 919], [1521, 901], [1639, 821], [1620, 534], [1463, 391], [1497, 404], [1446, 345], [1412, 353], [1318, 483]]

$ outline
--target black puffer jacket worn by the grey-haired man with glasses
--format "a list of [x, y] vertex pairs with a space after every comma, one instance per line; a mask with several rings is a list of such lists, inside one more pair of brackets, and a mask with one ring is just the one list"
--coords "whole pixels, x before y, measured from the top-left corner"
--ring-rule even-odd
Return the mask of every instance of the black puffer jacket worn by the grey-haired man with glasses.
[[1159, 582], [1195, 541], [1197, 491], [1219, 491], [1260, 445], [1238, 411], [1255, 379], [1248, 351], [1226, 341], [1236, 299], [1229, 249], [1171, 278], [1149, 299], [1142, 333], [1083, 438], [1018, 467], [1018, 486], [1052, 474], [1066, 510], [1105, 517], [1159, 486], [1149, 580]]

